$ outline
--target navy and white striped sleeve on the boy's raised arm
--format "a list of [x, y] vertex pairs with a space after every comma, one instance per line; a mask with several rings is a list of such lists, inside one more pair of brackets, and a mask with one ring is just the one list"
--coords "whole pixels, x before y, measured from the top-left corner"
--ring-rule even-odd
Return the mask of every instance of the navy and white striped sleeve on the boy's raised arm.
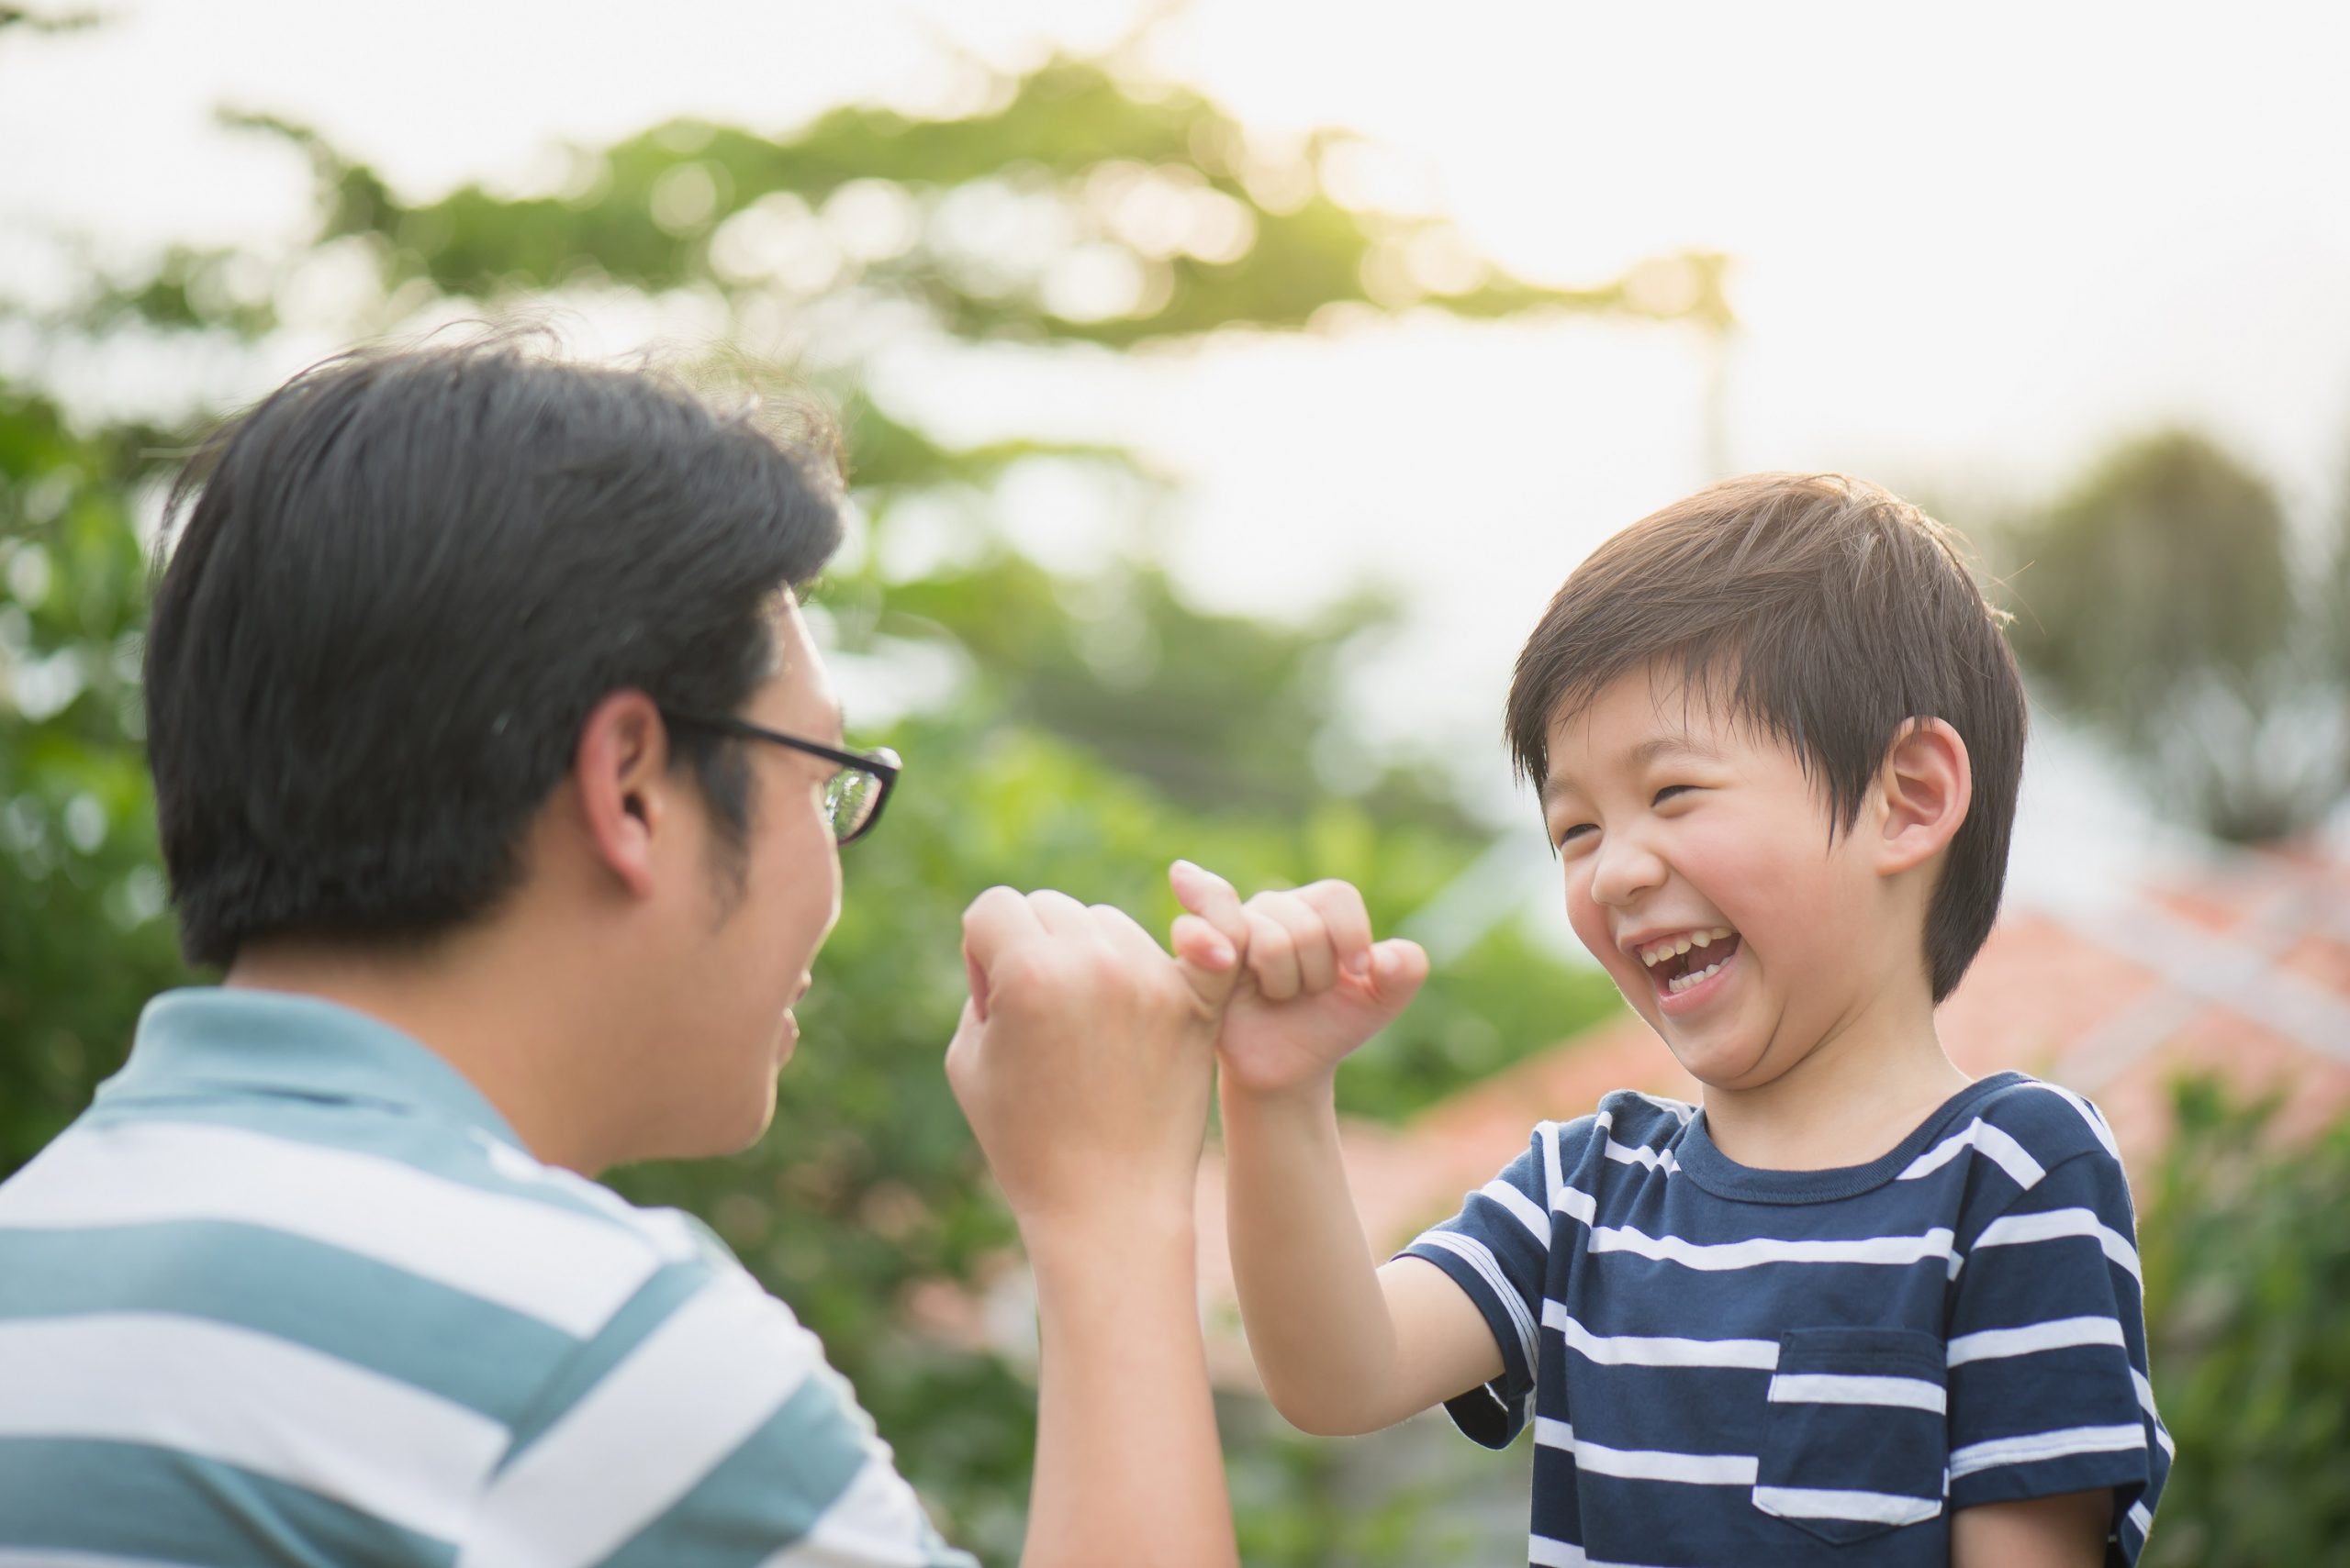
[[1532, 1411], [1558, 1138], [1553, 1122], [1537, 1127], [1528, 1150], [1471, 1192], [1459, 1214], [1396, 1253], [1424, 1258], [1452, 1275], [1502, 1347], [1502, 1376], [1495, 1383], [1445, 1401], [1452, 1422], [1488, 1448], [1509, 1446]]

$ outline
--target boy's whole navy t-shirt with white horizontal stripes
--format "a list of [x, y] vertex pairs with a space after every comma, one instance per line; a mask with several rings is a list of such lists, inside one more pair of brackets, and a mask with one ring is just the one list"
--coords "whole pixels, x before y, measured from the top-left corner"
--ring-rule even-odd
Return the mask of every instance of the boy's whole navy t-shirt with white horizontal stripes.
[[2096, 1108], [2000, 1073], [1833, 1171], [1610, 1094], [1405, 1253], [1502, 1347], [1462, 1432], [1535, 1420], [1532, 1563], [1946, 1563], [1953, 1509], [2096, 1488], [2134, 1563], [2171, 1462], [2134, 1237]]

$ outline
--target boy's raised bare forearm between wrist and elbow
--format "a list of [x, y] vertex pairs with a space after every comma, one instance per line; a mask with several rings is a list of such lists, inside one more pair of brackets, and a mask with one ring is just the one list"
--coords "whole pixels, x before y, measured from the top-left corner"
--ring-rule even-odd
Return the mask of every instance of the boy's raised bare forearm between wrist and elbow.
[[1227, 1080], [1222, 1101], [1231, 1275], [1274, 1408], [1325, 1437], [1410, 1415], [1389, 1408], [1396, 1331], [1347, 1190], [1330, 1080], [1278, 1096]]

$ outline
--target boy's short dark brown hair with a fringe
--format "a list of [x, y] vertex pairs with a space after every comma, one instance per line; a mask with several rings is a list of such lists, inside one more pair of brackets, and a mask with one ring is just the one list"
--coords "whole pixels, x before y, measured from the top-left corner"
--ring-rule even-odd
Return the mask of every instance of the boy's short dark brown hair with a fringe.
[[1826, 796], [1828, 833], [1915, 718], [1967, 742], [1974, 803], [1927, 911], [1941, 1002], [1967, 972], [2007, 880], [2023, 777], [2023, 681], [1955, 533], [1845, 474], [1725, 479], [1614, 535], [1574, 568], [1518, 653], [1509, 749], [1532, 784], [1551, 725], [1617, 676], [1678, 664], [1685, 690], [1786, 744]]

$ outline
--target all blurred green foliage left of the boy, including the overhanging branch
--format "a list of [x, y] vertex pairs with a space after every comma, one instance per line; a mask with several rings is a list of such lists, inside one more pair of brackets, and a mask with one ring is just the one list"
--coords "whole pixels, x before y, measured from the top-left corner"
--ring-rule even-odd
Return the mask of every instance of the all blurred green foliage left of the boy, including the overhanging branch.
[[[1013, 1242], [940, 1073], [964, 904], [999, 880], [1058, 885], [1163, 930], [1166, 859], [1191, 854], [1243, 885], [1351, 878], [1394, 927], [1483, 833], [1408, 770], [1365, 765], [1337, 791], [1321, 779], [1344, 648], [1391, 603], [1278, 627], [1196, 610], [1144, 554], [1053, 575], [994, 530], [1010, 472], [1097, 479], [1104, 526], [1147, 519], [1166, 481], [1114, 448], [945, 444], [872, 394], [867, 354], [902, 340], [1097, 354], [1415, 303], [1718, 329], [1718, 258], [1539, 289], [1469, 256], [1441, 218], [1337, 202], [1321, 174], [1347, 155], [1342, 136], [1271, 155], [1203, 99], [1083, 61], [1001, 82], [956, 120], [853, 106], [783, 136], [665, 124], [576, 150], [571, 178], [540, 195], [404, 197], [303, 127], [242, 124], [308, 155], [313, 239], [183, 246], [89, 268], [61, 305], [0, 300], [35, 366], [113, 340], [268, 345], [296, 317], [320, 331], [317, 279], [357, 275], [336, 336], [548, 300], [686, 305], [754, 354], [794, 347], [841, 408], [865, 540], [815, 603], [844, 671], [919, 688], [888, 732], [860, 735], [895, 744], [907, 779], [884, 831], [848, 854], [773, 1134], [623, 1183], [726, 1235], [825, 1338], [940, 1523], [1008, 1559], [1034, 1394], [1018, 1359], [916, 1336], [898, 1312], [926, 1282], [978, 1289]], [[188, 979], [160, 915], [134, 690], [136, 514], [174, 444], [80, 430], [40, 387], [0, 387], [0, 1174], [87, 1103], [139, 1005]], [[893, 538], [940, 507], [964, 530], [949, 559], [888, 568]], [[1349, 1066], [1347, 1108], [1408, 1115], [1612, 1007], [1605, 981], [1502, 925]], [[1403, 1519], [1316, 1523], [1332, 1509], [1323, 1467], [1250, 1432], [1234, 1467], [1253, 1476], [1238, 1488], [1253, 1561], [1419, 1561], [1426, 1533]]]

